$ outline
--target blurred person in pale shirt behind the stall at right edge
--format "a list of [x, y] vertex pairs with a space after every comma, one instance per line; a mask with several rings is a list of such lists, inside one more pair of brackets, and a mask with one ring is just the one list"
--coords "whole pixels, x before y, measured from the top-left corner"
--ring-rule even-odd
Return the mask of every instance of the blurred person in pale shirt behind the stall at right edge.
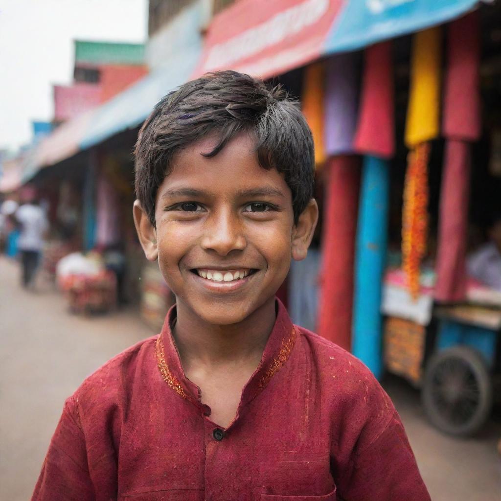
[[501, 292], [501, 212], [491, 219], [489, 241], [469, 258], [468, 275]]

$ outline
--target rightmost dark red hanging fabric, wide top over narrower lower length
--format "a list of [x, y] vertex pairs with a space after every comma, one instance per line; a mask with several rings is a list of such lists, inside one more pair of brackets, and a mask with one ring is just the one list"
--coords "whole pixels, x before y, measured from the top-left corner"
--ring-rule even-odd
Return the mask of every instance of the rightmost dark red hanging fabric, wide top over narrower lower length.
[[480, 32], [472, 12], [447, 28], [442, 119], [445, 145], [440, 192], [435, 299], [466, 299], [466, 239], [470, 179], [469, 141], [479, 138]]

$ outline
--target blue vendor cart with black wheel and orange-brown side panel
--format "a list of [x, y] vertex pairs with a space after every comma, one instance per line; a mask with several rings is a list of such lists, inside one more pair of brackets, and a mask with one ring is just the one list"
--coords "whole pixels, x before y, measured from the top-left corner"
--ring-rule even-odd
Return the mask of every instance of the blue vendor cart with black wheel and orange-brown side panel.
[[386, 368], [419, 388], [429, 421], [456, 436], [479, 431], [500, 395], [500, 298], [478, 291], [469, 289], [468, 302], [453, 305], [435, 305], [425, 291], [420, 305], [398, 307], [388, 301], [395, 290], [383, 293]]

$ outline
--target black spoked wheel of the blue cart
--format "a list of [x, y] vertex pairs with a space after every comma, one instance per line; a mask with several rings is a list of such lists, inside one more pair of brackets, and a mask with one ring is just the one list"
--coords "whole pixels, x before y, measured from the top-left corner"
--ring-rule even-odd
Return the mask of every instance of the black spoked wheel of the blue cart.
[[426, 367], [421, 395], [435, 427], [451, 435], [471, 435], [485, 423], [492, 406], [486, 364], [466, 346], [440, 351]]

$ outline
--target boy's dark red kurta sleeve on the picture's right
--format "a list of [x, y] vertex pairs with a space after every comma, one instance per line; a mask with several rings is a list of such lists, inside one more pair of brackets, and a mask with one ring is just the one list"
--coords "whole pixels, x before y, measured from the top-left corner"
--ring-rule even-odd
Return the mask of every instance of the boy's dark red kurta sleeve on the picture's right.
[[430, 501], [396, 410], [381, 430], [360, 436], [339, 492], [345, 501]]

